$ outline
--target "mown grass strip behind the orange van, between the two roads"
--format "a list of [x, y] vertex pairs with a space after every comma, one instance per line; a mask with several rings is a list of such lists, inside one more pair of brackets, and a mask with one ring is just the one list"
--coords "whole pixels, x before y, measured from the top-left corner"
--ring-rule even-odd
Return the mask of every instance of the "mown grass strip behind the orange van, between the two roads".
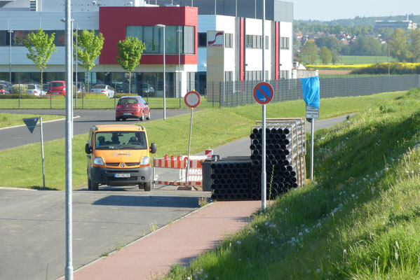
[[[331, 118], [361, 111], [395, 97], [404, 92], [374, 94], [363, 97], [337, 97], [321, 99], [320, 118]], [[277, 102], [266, 106], [267, 118], [304, 117], [305, 104], [302, 100]], [[194, 113], [191, 153], [229, 143], [250, 134], [250, 125], [261, 120], [262, 111], [258, 104], [228, 109], [206, 109]], [[189, 114], [142, 123], [147, 128], [150, 142], [156, 142], [158, 153], [163, 155], [186, 155], [189, 139]], [[73, 139], [73, 186], [86, 187], [86, 154], [84, 146], [88, 134], [76, 135]], [[41, 146], [29, 144], [0, 151], [0, 186], [13, 188], [36, 188], [42, 186]], [[65, 141], [58, 139], [44, 145], [46, 187], [65, 189]]]

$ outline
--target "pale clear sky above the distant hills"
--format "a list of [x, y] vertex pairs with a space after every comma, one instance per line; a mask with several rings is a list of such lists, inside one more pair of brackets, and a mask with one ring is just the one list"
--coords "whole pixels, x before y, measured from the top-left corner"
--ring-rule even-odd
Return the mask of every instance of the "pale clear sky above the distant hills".
[[[420, 14], [420, 0], [284, 0], [292, 2], [294, 20], [341, 20], [346, 18]], [[420, 23], [420, 22], [419, 22]]]

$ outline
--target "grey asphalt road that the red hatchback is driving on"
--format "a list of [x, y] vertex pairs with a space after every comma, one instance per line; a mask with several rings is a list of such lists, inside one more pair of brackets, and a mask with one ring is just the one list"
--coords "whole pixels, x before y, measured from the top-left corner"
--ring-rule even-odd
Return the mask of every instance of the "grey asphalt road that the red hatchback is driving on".
[[[0, 113], [30, 113], [40, 115], [60, 115], [65, 118], [65, 110], [0, 110]], [[189, 113], [188, 110], [166, 110], [166, 117], [178, 116]], [[114, 110], [74, 110], [74, 135], [88, 133], [92, 125], [110, 125], [115, 121]], [[16, 118], [20, 118], [18, 115]], [[156, 109], [151, 111], [151, 120], [163, 118], [163, 110]], [[144, 120], [149, 122], [150, 120]], [[124, 124], [139, 123], [137, 119], [128, 119]], [[31, 134], [22, 120], [21, 127], [0, 129], [0, 150], [14, 148], [25, 144], [38, 143], [41, 141], [39, 123]], [[43, 123], [43, 141], [51, 141], [65, 137], [65, 120]]]

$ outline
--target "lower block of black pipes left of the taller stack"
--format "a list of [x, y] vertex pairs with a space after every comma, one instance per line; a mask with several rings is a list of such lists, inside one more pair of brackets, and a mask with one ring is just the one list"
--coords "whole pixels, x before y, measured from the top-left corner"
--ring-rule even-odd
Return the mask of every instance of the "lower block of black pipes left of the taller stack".
[[250, 188], [252, 164], [248, 162], [212, 162], [212, 200], [256, 200]]

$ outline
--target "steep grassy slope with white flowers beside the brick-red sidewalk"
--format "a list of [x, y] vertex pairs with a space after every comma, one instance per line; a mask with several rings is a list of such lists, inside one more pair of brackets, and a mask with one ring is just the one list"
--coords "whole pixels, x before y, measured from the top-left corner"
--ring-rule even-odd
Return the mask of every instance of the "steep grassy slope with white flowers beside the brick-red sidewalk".
[[315, 183], [159, 279], [419, 279], [419, 108], [410, 90], [316, 132]]

